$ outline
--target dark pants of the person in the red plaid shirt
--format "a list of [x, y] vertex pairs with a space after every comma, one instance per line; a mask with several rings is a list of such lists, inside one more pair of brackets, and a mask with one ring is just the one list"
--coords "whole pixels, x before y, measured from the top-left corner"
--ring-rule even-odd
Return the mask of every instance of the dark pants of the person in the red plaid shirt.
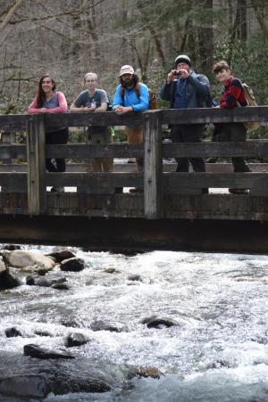
[[[219, 142], [244, 142], [246, 141], [247, 128], [243, 123], [223, 123], [214, 141]], [[234, 172], [250, 172], [247, 162], [243, 158], [231, 158]]]

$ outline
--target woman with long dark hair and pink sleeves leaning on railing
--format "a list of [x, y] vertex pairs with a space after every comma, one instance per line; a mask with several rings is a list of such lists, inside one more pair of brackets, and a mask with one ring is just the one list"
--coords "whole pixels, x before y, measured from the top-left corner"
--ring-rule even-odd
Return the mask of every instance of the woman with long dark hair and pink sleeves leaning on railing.
[[[63, 92], [55, 90], [54, 79], [49, 75], [40, 78], [38, 92], [29, 105], [30, 114], [37, 113], [64, 113], [68, 105]], [[66, 144], [68, 141], [68, 127], [49, 127], [46, 129], [46, 144]], [[65, 160], [56, 158], [55, 161], [46, 158], [48, 172], [64, 172]], [[52, 192], [63, 192], [64, 187], [52, 187]]]

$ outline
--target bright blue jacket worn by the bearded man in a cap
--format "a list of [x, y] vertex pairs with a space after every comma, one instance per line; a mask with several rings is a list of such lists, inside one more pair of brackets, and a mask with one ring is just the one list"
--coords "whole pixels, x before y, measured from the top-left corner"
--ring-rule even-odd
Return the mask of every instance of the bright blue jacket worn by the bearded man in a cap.
[[124, 99], [121, 99], [121, 85], [117, 86], [113, 97], [113, 110], [116, 106], [132, 106], [133, 111], [147, 111], [149, 109], [149, 91], [145, 84], [140, 84], [140, 97], [138, 98], [135, 88], [124, 91]]

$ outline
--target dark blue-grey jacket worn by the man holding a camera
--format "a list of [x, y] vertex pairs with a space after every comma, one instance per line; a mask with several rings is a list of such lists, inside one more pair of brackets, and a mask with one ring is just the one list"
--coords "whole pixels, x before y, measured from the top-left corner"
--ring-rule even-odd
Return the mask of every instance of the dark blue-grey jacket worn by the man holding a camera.
[[[179, 79], [174, 79], [171, 84], [166, 82], [160, 92], [163, 101], [170, 101], [171, 109], [173, 109], [175, 89]], [[205, 75], [196, 74], [193, 70], [186, 79], [186, 108], [205, 108], [205, 98], [209, 94], [209, 80]]]

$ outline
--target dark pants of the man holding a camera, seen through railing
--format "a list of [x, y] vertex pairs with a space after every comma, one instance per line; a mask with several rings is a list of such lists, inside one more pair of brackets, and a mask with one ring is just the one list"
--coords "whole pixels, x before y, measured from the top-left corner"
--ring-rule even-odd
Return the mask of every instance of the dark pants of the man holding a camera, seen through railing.
[[[204, 124], [172, 125], [172, 143], [200, 143], [203, 137]], [[203, 158], [175, 158], [178, 165], [176, 172], [188, 172], [189, 162], [195, 172], [205, 172]]]

